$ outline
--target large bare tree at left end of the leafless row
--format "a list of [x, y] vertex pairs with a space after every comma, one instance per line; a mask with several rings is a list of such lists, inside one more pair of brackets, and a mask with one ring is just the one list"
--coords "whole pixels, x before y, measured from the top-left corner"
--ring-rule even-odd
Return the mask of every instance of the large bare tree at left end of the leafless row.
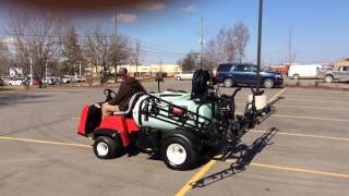
[[44, 77], [46, 63], [55, 61], [58, 54], [60, 20], [48, 12], [14, 12], [9, 22], [10, 35], [14, 39], [15, 60], [24, 75], [29, 74], [33, 63], [33, 75]]

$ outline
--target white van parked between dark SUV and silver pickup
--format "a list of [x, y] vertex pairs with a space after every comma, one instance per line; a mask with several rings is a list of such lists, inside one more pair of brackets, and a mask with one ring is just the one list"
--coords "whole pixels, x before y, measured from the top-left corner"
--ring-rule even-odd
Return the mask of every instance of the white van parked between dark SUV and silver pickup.
[[317, 70], [321, 64], [292, 64], [288, 70], [288, 77], [293, 79], [316, 78]]

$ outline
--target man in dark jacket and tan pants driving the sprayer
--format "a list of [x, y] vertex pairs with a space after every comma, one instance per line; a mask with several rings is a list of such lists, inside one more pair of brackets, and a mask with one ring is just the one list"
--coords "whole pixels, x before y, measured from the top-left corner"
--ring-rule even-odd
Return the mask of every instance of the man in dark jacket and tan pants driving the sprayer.
[[111, 115], [112, 112], [117, 111], [125, 111], [128, 110], [130, 99], [134, 94], [144, 93], [146, 94], [145, 88], [142, 84], [135, 79], [134, 77], [129, 76], [128, 70], [121, 68], [119, 70], [119, 74], [121, 75], [123, 82], [119, 87], [119, 91], [111, 100], [105, 102], [101, 106], [103, 115]]

